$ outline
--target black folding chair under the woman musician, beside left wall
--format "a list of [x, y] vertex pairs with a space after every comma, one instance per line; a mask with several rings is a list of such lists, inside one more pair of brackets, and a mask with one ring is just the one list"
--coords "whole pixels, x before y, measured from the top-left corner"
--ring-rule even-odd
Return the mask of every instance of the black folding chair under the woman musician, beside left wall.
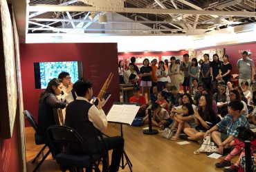
[[44, 160], [47, 158], [47, 156], [49, 155], [49, 153], [51, 153], [50, 150], [47, 151], [47, 153], [44, 155], [44, 149], [46, 149], [47, 145], [46, 145], [46, 138], [44, 136], [44, 133], [42, 133], [37, 125], [37, 122], [35, 122], [35, 118], [33, 117], [33, 115], [30, 113], [30, 111], [25, 110], [23, 112], [24, 116], [26, 117], [26, 119], [28, 120], [28, 122], [30, 123], [30, 125], [33, 127], [33, 129], [35, 129], [35, 144], [40, 145], [40, 144], [44, 144], [44, 147], [41, 149], [41, 151], [39, 151], [39, 153], [37, 153], [37, 155], [35, 156], [35, 158], [32, 160], [32, 164], [35, 163], [35, 161], [39, 158], [39, 155], [42, 155], [42, 160], [37, 164], [37, 166], [35, 166], [34, 171], [37, 171], [37, 169], [39, 168], [39, 166], [41, 166], [41, 164], [44, 162]]

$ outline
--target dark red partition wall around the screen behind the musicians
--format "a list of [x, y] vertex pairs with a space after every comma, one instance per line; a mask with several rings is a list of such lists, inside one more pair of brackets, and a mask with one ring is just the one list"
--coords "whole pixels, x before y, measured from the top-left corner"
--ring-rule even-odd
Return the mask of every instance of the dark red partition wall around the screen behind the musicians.
[[[107, 113], [113, 101], [119, 100], [118, 50], [116, 43], [36, 43], [20, 44], [21, 76], [24, 109], [37, 120], [38, 98], [42, 89], [35, 89], [34, 63], [47, 61], [82, 61], [84, 77], [93, 82], [93, 93], [98, 96], [104, 81], [113, 72], [108, 92], [112, 94], [104, 107]], [[26, 121], [26, 126], [28, 123]]]

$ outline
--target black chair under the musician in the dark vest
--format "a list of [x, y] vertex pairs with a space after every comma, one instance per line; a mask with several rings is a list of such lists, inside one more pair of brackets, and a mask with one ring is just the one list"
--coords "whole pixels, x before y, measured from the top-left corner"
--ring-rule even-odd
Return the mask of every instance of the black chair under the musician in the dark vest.
[[[70, 127], [54, 125], [48, 127], [47, 134], [51, 142], [51, 145], [49, 145], [51, 152], [55, 155], [54, 158], [60, 164], [62, 171], [66, 171], [66, 169], [80, 171], [83, 168], [86, 168], [86, 171], [92, 171], [92, 169], [95, 169], [96, 172], [100, 171], [98, 165], [102, 158], [104, 159], [104, 155], [91, 154], [86, 142], [84, 142], [85, 140], [82, 139], [77, 131]], [[68, 144], [79, 145], [81, 150], [87, 152], [86, 155], [66, 152], [65, 147]], [[106, 170], [103, 169], [103, 171]]]

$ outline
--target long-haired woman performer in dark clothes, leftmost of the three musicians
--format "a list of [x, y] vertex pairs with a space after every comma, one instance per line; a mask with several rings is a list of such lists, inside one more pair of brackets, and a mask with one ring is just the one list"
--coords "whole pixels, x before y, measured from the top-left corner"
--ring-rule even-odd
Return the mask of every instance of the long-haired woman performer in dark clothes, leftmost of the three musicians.
[[56, 96], [59, 96], [62, 92], [62, 80], [53, 78], [48, 83], [48, 86], [39, 97], [39, 109], [38, 109], [38, 127], [41, 131], [46, 133], [46, 129], [51, 125], [56, 125], [53, 115], [54, 108], [64, 109], [66, 103], [58, 100]]

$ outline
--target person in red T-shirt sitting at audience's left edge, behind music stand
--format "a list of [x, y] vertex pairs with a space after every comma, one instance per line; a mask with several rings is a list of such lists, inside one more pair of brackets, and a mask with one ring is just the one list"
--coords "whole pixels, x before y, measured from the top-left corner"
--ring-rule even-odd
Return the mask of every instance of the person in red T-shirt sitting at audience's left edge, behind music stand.
[[129, 103], [138, 103], [140, 104], [140, 109], [138, 110], [138, 113], [136, 114], [136, 117], [144, 117], [145, 116], [145, 110], [146, 110], [146, 99], [143, 96], [140, 96], [140, 87], [135, 86], [133, 89], [134, 96], [131, 96], [129, 98]]

